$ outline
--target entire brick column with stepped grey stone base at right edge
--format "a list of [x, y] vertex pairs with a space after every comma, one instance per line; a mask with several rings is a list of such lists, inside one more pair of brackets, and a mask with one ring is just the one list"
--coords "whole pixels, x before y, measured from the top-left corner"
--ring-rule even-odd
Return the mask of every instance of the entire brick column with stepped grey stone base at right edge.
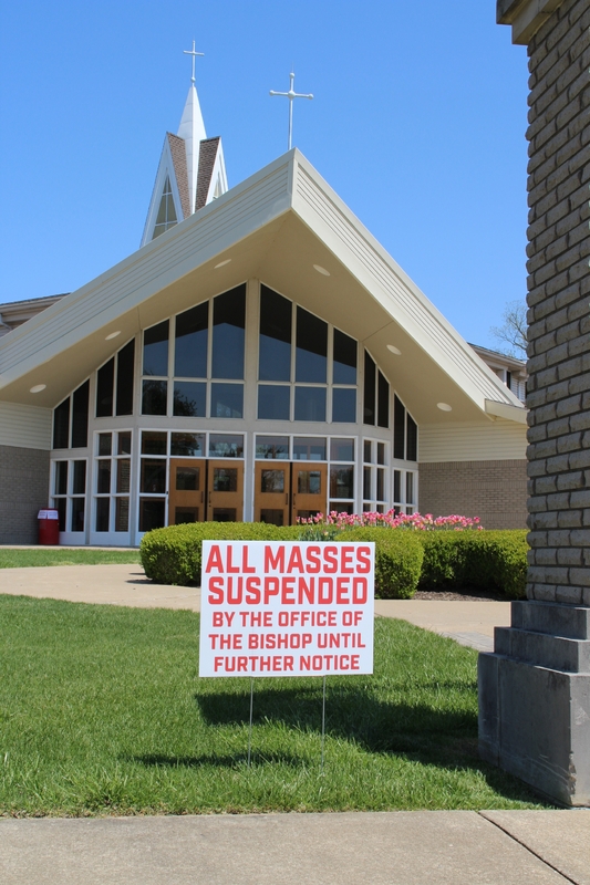
[[527, 602], [479, 657], [479, 749], [590, 805], [590, 0], [497, 0], [529, 53]]

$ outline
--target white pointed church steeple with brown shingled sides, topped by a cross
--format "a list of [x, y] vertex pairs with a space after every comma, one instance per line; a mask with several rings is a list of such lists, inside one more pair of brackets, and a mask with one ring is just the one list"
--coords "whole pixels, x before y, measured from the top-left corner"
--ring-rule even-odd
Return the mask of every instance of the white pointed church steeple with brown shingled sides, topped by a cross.
[[201, 209], [228, 189], [220, 136], [207, 138], [205, 123], [193, 76], [178, 134], [166, 133], [156, 181], [147, 211], [142, 246], [165, 233], [170, 227]]

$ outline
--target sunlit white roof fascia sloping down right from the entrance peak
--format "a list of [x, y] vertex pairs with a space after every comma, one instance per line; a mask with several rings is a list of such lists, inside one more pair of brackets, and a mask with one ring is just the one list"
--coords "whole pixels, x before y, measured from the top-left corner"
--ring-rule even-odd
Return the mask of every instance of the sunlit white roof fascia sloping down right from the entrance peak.
[[[392, 320], [486, 413], [486, 399], [525, 412], [372, 233], [297, 149], [293, 209]], [[288, 155], [286, 155], [288, 156]]]

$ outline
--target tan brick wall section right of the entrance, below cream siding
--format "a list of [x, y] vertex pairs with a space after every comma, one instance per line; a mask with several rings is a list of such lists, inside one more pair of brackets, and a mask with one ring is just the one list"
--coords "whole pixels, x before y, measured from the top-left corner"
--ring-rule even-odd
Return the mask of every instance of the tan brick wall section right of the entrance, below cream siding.
[[421, 464], [420, 512], [479, 517], [486, 529], [527, 525], [527, 462]]

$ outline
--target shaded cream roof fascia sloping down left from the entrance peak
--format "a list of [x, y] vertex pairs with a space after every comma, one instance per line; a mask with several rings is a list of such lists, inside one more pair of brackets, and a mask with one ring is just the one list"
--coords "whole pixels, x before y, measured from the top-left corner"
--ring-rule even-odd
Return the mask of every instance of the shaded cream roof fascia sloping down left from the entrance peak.
[[291, 208], [284, 155], [0, 339], [0, 389], [137, 309]]

